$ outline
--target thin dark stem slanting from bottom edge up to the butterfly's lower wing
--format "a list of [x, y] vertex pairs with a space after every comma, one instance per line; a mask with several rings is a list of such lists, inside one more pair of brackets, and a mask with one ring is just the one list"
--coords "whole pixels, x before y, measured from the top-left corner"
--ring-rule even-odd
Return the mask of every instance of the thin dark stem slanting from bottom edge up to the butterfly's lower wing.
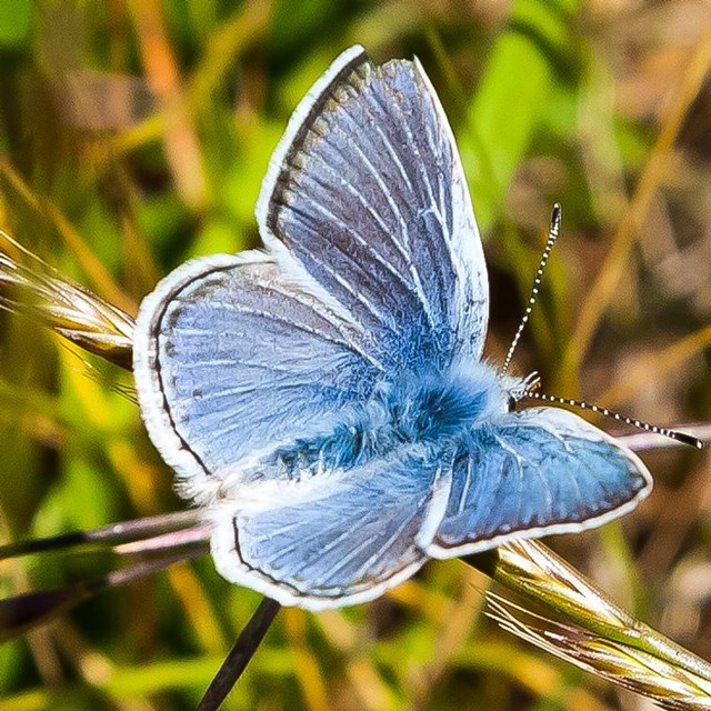
[[234, 647], [222, 662], [222, 667], [210, 682], [198, 705], [198, 711], [216, 711], [220, 708], [254, 655], [280, 608], [281, 605], [271, 598], [264, 598], [259, 603]]

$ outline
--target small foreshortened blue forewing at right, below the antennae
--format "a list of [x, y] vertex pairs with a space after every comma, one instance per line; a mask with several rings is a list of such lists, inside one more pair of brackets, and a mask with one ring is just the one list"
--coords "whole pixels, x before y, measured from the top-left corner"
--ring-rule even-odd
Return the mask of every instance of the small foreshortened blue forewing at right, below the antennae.
[[613, 438], [565, 410], [531, 408], [471, 430], [427, 552], [450, 558], [510, 538], [580, 531], [633, 509], [652, 479]]

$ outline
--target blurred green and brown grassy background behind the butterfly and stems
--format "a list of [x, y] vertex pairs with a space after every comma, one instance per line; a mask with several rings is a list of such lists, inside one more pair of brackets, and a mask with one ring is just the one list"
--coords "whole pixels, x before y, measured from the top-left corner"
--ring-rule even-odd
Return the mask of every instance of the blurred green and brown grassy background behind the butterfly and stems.
[[[488, 357], [505, 352], [559, 200], [518, 370], [659, 424], [709, 420], [708, 2], [0, 0], [0, 228], [134, 313], [187, 258], [258, 243], [290, 111], [354, 42], [378, 62], [417, 54], [450, 117], [490, 270]], [[130, 374], [91, 365], [0, 313], [0, 542], [184, 507]], [[645, 460], [657, 488], [638, 511], [551, 544], [709, 659], [708, 458]], [[0, 597], [107, 564], [0, 564]], [[649, 708], [500, 632], [488, 585], [432, 562], [370, 604], [284, 611], [226, 708]], [[210, 560], [103, 593], [0, 647], [0, 710], [194, 708], [258, 600]]]

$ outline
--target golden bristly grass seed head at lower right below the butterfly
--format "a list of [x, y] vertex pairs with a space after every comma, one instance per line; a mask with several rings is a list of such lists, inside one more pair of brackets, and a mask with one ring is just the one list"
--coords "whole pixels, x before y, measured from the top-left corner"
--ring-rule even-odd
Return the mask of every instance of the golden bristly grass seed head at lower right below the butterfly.
[[662, 708], [711, 709], [711, 664], [624, 612], [539, 541], [501, 545], [488, 572], [555, 615], [488, 593], [489, 614], [507, 631]]

